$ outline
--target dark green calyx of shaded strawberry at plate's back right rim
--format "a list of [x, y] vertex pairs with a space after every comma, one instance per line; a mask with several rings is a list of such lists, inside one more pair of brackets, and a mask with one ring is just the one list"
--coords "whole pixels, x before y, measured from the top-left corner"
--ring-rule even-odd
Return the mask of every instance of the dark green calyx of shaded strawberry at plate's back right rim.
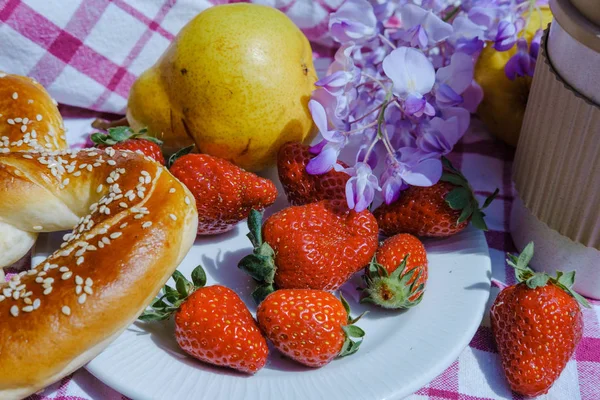
[[457, 187], [452, 189], [450, 193], [446, 195], [446, 203], [453, 210], [461, 210], [461, 214], [456, 221], [456, 225], [468, 220], [470, 218], [471, 223], [477, 229], [481, 229], [482, 231], [487, 231], [488, 227], [485, 223], [485, 213], [483, 212], [492, 201], [498, 195], [499, 189], [496, 188], [494, 193], [488, 196], [483, 205], [479, 207], [479, 202], [475, 198], [475, 194], [473, 193], [473, 189], [471, 185], [469, 185], [469, 181], [465, 176], [448, 160], [446, 157], [442, 157], [442, 164], [444, 166], [444, 172], [442, 173], [442, 177], [440, 181], [449, 182]]

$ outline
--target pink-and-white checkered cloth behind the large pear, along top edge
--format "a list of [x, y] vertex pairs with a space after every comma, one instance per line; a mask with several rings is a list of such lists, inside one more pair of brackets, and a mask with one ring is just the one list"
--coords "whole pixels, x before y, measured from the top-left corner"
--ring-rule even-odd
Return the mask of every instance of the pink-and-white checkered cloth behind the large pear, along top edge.
[[[0, 0], [0, 70], [37, 79], [62, 104], [124, 113], [129, 88], [177, 32], [213, 4], [239, 0]], [[343, 0], [252, 0], [327, 39]], [[321, 47], [321, 46], [319, 46]]]

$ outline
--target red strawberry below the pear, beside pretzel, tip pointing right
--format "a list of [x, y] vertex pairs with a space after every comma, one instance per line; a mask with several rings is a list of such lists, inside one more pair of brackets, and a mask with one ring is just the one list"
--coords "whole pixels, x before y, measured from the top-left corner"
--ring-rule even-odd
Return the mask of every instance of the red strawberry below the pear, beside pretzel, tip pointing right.
[[262, 210], [277, 198], [270, 180], [207, 154], [177, 158], [170, 171], [196, 199], [199, 235], [227, 232], [247, 218], [251, 209]]

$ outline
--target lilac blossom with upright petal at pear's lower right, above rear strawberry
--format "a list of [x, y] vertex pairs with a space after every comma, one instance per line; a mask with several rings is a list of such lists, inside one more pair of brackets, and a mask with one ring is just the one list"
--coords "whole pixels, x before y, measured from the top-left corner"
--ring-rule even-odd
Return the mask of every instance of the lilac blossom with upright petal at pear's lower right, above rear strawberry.
[[340, 151], [348, 142], [348, 138], [342, 132], [329, 130], [327, 114], [321, 103], [310, 100], [308, 108], [319, 133], [323, 136], [323, 140], [311, 148], [311, 152], [313, 154], [318, 153], [318, 155], [308, 162], [306, 172], [311, 175], [320, 175], [331, 170], [334, 164], [337, 163]]

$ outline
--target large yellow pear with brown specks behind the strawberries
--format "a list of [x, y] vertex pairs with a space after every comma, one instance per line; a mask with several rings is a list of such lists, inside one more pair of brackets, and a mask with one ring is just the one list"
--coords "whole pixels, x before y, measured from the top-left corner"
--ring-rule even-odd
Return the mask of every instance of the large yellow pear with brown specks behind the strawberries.
[[207, 9], [136, 80], [127, 119], [172, 152], [202, 153], [260, 170], [281, 144], [312, 136], [317, 77], [304, 34], [282, 12], [254, 4]]

